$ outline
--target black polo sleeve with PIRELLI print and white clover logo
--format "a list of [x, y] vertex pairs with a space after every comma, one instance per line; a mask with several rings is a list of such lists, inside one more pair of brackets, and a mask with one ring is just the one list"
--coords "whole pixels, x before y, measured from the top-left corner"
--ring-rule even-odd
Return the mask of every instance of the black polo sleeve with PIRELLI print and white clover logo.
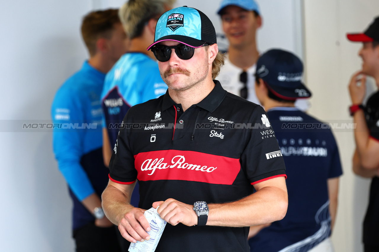
[[252, 127], [246, 129], [246, 147], [241, 155], [241, 165], [246, 169], [251, 184], [286, 176], [275, 132], [261, 106], [255, 107], [249, 123]]

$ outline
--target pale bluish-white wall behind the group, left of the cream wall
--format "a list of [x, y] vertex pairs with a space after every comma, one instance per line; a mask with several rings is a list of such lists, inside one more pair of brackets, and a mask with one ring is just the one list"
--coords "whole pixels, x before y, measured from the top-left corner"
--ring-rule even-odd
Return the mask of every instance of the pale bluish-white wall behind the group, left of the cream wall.
[[[122, 0], [2, 1], [0, 4], [0, 251], [73, 251], [67, 187], [52, 153], [48, 130], [23, 123], [50, 122], [53, 96], [87, 53], [80, 38], [83, 15], [118, 7]], [[188, 3], [190, 2], [190, 4]], [[282, 47], [302, 54], [300, 0], [259, 0], [261, 51]], [[196, 7], [220, 29], [217, 1], [179, 0]], [[301, 34], [300, 34], [301, 35]]]

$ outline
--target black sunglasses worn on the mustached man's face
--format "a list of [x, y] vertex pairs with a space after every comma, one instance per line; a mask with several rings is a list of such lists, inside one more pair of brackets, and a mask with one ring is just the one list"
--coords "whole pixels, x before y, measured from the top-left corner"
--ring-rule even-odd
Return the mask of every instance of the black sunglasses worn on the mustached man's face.
[[[204, 44], [202, 46], [205, 45], [208, 44]], [[155, 59], [159, 60], [160, 62], [166, 62], [170, 59], [172, 49], [175, 49], [176, 55], [180, 59], [184, 60], [191, 59], [195, 51], [195, 48], [185, 44], [179, 44], [174, 46], [158, 45], [151, 48], [151, 50], [154, 53]]]

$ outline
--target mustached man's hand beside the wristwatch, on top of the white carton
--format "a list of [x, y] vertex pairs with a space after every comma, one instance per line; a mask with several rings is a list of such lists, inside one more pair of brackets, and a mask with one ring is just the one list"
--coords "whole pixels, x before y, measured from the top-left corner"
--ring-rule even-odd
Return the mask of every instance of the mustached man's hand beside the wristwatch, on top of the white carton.
[[197, 215], [193, 210], [193, 205], [188, 205], [175, 199], [166, 199], [166, 201], [157, 201], [153, 207], [157, 208], [161, 218], [172, 226], [183, 223], [186, 226], [197, 225]]

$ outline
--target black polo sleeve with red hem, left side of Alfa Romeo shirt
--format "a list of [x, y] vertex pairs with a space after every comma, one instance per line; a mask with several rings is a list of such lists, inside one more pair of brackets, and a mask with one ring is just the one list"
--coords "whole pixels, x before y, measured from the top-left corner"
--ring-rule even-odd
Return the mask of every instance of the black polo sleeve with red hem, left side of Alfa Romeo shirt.
[[119, 184], [133, 184], [137, 178], [137, 170], [134, 165], [134, 156], [129, 145], [128, 114], [122, 121], [116, 144], [113, 148], [109, 163], [109, 178]]

